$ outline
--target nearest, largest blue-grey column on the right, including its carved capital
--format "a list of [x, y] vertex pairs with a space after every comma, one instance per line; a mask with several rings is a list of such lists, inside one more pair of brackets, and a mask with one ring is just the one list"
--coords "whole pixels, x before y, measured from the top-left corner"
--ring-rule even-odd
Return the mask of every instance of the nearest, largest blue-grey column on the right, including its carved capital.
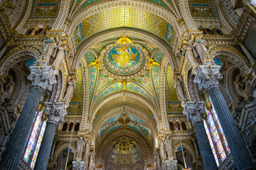
[[242, 140], [238, 125], [236, 125], [225, 98], [220, 91], [218, 79], [222, 79], [222, 76], [219, 69], [220, 66], [199, 66], [193, 71], [193, 74], [196, 74], [194, 82], [198, 84], [199, 90], [206, 89], [213, 102], [213, 106], [228, 141], [236, 168], [253, 169], [254, 165], [252, 164], [252, 159], [245, 146], [245, 142]]

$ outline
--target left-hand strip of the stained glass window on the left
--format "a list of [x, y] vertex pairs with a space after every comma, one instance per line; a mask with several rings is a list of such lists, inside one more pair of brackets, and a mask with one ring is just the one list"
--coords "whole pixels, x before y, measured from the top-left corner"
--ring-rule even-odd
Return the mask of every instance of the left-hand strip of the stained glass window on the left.
[[29, 137], [28, 145], [26, 147], [26, 152], [23, 157], [26, 163], [28, 163], [29, 160], [31, 159], [31, 154], [36, 145], [36, 137], [41, 127], [41, 118], [42, 118], [42, 112], [40, 111], [38, 112], [38, 115], [36, 117], [36, 122], [35, 122], [35, 125], [33, 126], [33, 130], [31, 132], [31, 136]]

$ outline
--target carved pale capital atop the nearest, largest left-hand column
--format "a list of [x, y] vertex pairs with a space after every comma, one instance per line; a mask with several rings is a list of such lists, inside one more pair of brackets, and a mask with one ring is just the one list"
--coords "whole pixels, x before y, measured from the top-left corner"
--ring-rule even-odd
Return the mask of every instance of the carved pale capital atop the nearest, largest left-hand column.
[[31, 73], [28, 75], [28, 79], [32, 81], [32, 86], [39, 86], [43, 90], [51, 90], [53, 84], [57, 83], [51, 66], [39, 65], [29, 68], [31, 69]]

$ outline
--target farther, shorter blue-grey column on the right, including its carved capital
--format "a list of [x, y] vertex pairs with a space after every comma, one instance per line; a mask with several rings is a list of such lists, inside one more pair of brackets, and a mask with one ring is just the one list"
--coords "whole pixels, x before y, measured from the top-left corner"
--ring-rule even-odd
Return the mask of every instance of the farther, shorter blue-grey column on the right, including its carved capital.
[[206, 135], [206, 130], [203, 126], [202, 115], [206, 113], [206, 110], [204, 109], [204, 103], [204, 101], [187, 101], [184, 106], [183, 114], [186, 115], [188, 121], [192, 121], [193, 126], [195, 127], [198, 145], [203, 158], [205, 169], [214, 170], [218, 169], [218, 167], [213, 157], [213, 151], [210, 147], [210, 143]]

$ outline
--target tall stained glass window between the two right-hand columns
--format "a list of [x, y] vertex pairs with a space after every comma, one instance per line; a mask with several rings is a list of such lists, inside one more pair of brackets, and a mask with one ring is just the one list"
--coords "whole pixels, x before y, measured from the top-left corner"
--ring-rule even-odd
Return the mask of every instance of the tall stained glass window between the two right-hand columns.
[[206, 109], [207, 123], [204, 121], [204, 126], [206, 128], [206, 134], [208, 135], [210, 147], [213, 150], [216, 164], [219, 166], [220, 163], [225, 160], [227, 154], [230, 153], [230, 148], [211, 100], [210, 103], [212, 109], [210, 111]]

